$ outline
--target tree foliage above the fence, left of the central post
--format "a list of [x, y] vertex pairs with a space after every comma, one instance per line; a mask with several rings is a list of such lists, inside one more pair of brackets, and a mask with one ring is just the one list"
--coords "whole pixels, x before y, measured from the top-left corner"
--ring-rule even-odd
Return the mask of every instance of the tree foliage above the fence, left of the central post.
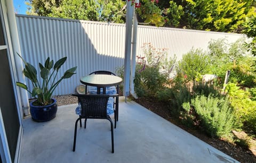
[[[58, 1], [58, 3], [57, 3]], [[27, 14], [56, 18], [123, 23], [122, 0], [29, 0]]]

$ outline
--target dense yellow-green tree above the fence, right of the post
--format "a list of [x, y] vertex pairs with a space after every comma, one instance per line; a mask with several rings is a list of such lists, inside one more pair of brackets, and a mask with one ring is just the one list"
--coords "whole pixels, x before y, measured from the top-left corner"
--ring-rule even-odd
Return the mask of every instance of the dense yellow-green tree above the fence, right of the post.
[[182, 0], [159, 1], [159, 7], [166, 20], [165, 26], [221, 31], [240, 32], [246, 16], [254, 14], [255, 0]]

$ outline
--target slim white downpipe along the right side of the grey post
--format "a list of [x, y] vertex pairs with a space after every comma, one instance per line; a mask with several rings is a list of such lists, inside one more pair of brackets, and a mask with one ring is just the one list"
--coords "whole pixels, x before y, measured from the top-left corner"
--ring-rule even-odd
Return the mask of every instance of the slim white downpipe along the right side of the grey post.
[[[137, 2], [139, 3], [139, 2]], [[132, 62], [131, 62], [131, 80], [130, 80], [130, 92], [131, 95], [137, 99], [138, 96], [134, 91], [134, 83], [133, 80], [135, 78], [135, 66], [136, 66], [136, 46], [137, 46], [137, 29], [138, 29], [138, 21], [137, 16], [135, 14], [135, 10], [133, 10], [133, 28], [132, 28]]]

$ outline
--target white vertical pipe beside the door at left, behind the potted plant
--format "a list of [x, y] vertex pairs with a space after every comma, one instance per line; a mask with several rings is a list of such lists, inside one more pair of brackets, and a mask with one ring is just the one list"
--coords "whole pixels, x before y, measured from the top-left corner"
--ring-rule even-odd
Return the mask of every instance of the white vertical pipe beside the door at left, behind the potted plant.
[[[15, 78], [15, 80], [18, 80], [19, 82], [26, 84], [25, 76], [22, 73], [23, 63], [22, 63], [21, 58], [17, 55], [17, 53], [19, 53], [21, 55], [21, 50], [20, 50], [19, 35], [18, 35], [17, 23], [16, 23], [16, 19], [15, 19], [12, 1], [7, 2], [6, 7], [7, 7], [8, 23], [9, 23], [11, 43], [12, 43], [12, 49], [13, 49], [12, 52], [10, 50], [10, 54], [11, 54], [12, 61], [15, 61], [13, 65], [16, 66], [16, 68], [13, 68], [14, 78]], [[15, 74], [16, 74], [16, 76], [15, 76]], [[16, 87], [16, 86], [14, 85], [14, 87]], [[29, 107], [27, 91], [24, 89], [21, 89], [21, 88], [17, 89], [17, 91], [20, 92], [20, 96], [18, 96], [19, 104], [22, 105], [23, 110], [24, 110], [24, 108], [25, 108], [25, 110], [27, 110]]]

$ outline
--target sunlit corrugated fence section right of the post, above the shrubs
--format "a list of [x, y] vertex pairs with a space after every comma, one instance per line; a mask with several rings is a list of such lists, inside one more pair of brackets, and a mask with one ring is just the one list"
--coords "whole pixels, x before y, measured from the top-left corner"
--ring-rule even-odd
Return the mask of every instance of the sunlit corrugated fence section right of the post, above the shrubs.
[[198, 30], [157, 28], [139, 25], [137, 35], [137, 55], [143, 55], [143, 43], [150, 42], [156, 49], [167, 48], [168, 55], [177, 56], [180, 60], [192, 48], [207, 50], [211, 39], [226, 38], [235, 42], [243, 35], [222, 32], [207, 32]]

